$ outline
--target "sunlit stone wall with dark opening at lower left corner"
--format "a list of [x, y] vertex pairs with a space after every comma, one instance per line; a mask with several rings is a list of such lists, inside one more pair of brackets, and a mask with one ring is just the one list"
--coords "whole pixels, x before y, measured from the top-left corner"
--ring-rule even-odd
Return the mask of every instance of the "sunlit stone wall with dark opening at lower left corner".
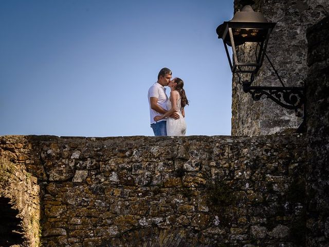
[[[5, 147], [14, 151], [21, 143]], [[40, 200], [36, 182], [24, 167], [0, 156], [0, 246], [39, 246]]]

